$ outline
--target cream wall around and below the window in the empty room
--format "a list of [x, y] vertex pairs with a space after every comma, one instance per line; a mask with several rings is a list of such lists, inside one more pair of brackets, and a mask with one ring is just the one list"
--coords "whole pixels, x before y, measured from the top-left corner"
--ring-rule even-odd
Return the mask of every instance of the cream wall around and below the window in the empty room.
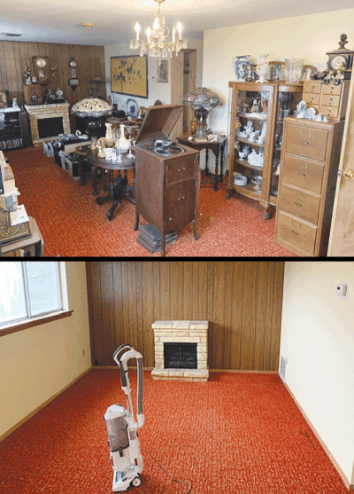
[[72, 316], [0, 336], [0, 436], [91, 366], [85, 263], [65, 267]]

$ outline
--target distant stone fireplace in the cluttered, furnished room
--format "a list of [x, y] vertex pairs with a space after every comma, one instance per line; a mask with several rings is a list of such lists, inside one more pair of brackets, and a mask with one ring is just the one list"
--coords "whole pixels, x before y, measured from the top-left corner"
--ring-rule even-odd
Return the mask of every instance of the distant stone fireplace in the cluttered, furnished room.
[[43, 141], [55, 139], [61, 133], [70, 134], [69, 103], [25, 105], [25, 109], [29, 115], [33, 145], [42, 145]]

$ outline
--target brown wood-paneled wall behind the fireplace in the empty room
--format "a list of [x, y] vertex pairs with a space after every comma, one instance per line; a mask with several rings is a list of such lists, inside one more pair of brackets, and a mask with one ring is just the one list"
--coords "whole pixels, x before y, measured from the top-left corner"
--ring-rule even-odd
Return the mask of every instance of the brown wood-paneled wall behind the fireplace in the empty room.
[[130, 343], [154, 366], [151, 324], [210, 321], [211, 369], [277, 371], [282, 262], [88, 262], [93, 365]]

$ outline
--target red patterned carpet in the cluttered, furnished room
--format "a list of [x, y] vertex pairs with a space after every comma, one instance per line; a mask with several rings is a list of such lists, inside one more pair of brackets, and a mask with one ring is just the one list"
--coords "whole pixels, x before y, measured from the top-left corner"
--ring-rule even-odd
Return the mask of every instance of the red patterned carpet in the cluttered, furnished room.
[[[123, 200], [111, 223], [107, 202], [96, 205], [91, 180], [84, 187], [47, 158], [41, 147], [5, 153], [9, 158], [28, 216], [35, 217], [46, 256], [151, 256], [136, 242], [135, 206]], [[204, 178], [202, 178], [204, 179]], [[102, 193], [102, 182], [100, 183]], [[293, 256], [274, 243], [275, 218], [263, 219], [258, 202], [234, 193], [225, 200], [226, 187], [214, 192], [202, 184], [195, 240], [192, 225], [184, 228], [166, 256]], [[141, 224], [143, 224], [143, 220]], [[159, 253], [153, 256], [159, 257]]]

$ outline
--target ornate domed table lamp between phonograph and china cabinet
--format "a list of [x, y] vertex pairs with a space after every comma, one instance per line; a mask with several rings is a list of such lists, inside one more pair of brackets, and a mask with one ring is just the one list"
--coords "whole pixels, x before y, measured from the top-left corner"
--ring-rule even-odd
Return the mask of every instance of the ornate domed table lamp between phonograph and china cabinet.
[[183, 98], [183, 105], [192, 106], [196, 115], [195, 137], [206, 137], [206, 118], [215, 106], [222, 105], [221, 98], [207, 88], [196, 88]]

